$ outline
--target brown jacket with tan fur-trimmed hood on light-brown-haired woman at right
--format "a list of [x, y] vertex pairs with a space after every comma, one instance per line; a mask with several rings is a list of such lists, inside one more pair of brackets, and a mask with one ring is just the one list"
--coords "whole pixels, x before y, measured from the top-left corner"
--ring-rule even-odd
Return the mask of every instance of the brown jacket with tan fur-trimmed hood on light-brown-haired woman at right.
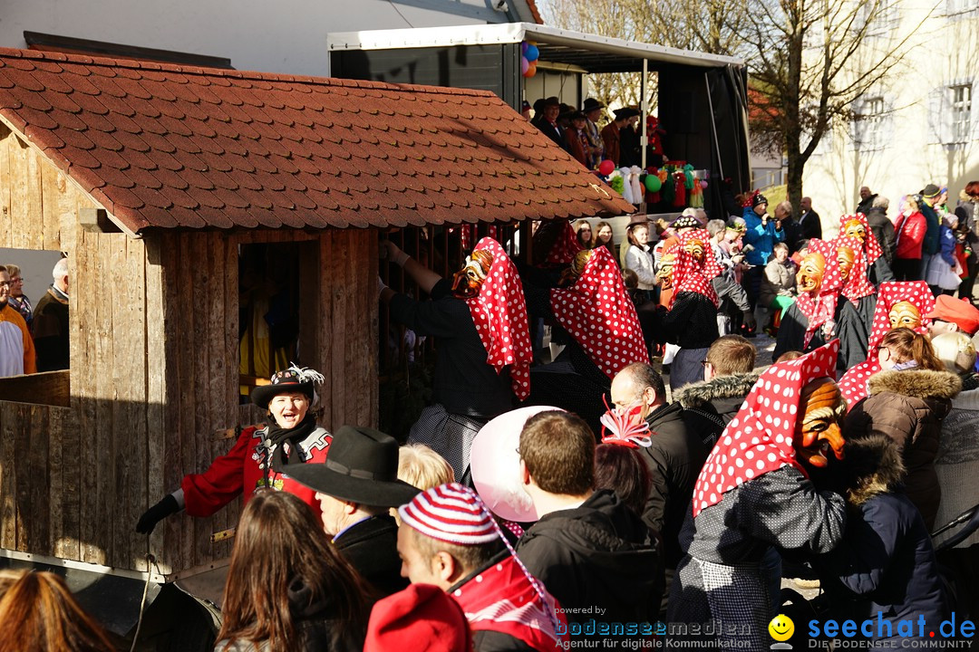
[[847, 439], [883, 433], [898, 443], [908, 468], [908, 498], [929, 531], [941, 500], [935, 456], [942, 420], [961, 386], [948, 371], [881, 371], [870, 376], [867, 398], [851, 408], [844, 426]]

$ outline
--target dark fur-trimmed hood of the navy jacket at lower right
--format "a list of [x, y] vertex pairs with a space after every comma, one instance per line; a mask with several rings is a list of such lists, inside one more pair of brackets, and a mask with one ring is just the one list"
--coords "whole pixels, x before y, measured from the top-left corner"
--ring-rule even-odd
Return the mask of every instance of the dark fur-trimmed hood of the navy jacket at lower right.
[[847, 498], [862, 504], [874, 496], [890, 494], [901, 487], [905, 464], [901, 449], [887, 435], [869, 434], [847, 442], [843, 470], [847, 475]]

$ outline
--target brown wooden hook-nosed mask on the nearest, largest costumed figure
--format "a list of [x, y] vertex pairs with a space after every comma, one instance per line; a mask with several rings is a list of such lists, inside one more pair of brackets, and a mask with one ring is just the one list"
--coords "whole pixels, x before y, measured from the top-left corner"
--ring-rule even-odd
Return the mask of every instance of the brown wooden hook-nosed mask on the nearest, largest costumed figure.
[[843, 459], [846, 442], [840, 426], [846, 410], [847, 404], [832, 378], [818, 378], [803, 387], [799, 402], [803, 416], [796, 422], [792, 440], [801, 461], [825, 468], [830, 451], [837, 459]]

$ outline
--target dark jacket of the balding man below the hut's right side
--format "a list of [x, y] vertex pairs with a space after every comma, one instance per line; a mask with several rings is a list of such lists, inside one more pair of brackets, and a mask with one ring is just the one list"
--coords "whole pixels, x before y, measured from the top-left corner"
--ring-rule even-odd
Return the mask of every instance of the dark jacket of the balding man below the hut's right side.
[[704, 433], [695, 431], [678, 403], [660, 406], [646, 422], [652, 443], [639, 452], [653, 482], [642, 520], [659, 533], [667, 568], [676, 568], [681, 556], [679, 529], [708, 449]]

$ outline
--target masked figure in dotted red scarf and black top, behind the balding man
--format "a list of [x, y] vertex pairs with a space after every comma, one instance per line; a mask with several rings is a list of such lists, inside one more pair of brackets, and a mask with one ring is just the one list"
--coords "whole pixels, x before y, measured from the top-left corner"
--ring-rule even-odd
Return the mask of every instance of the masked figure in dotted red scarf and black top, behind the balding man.
[[710, 234], [704, 229], [685, 231], [678, 236], [672, 251], [673, 295], [667, 308], [661, 307], [653, 328], [661, 343], [676, 344], [679, 350], [670, 368], [670, 387], [703, 380], [701, 362], [718, 338], [718, 306], [721, 304], [711, 280], [723, 274], [723, 267], [711, 252]]

